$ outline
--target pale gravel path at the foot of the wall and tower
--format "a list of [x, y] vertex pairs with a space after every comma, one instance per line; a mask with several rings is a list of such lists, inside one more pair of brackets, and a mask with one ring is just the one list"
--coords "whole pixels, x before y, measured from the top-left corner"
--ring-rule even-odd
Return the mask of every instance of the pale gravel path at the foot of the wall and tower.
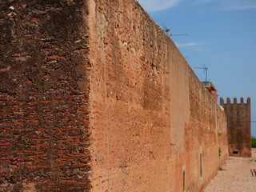
[[[230, 157], [204, 192], [256, 192], [256, 150], [252, 155], [253, 158]], [[251, 170], [255, 170], [254, 176]]]

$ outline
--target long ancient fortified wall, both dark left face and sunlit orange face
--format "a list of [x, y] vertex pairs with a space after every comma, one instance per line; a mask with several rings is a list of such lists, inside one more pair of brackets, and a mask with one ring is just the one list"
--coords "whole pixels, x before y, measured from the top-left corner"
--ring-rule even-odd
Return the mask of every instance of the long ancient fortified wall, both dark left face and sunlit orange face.
[[138, 2], [0, 11], [1, 191], [198, 192], [225, 162], [226, 115]]

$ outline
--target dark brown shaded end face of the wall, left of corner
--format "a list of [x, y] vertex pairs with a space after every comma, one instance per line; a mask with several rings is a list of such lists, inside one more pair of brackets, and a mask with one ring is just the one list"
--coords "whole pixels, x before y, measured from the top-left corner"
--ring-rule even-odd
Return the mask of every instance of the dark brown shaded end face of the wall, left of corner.
[[83, 1], [0, 2], [0, 190], [87, 191]]

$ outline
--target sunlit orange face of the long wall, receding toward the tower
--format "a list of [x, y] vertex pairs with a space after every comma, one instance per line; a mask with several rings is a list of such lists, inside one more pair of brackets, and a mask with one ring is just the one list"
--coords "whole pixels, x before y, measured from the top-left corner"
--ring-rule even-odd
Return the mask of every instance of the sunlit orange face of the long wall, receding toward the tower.
[[92, 191], [201, 191], [225, 114], [138, 3], [89, 2]]

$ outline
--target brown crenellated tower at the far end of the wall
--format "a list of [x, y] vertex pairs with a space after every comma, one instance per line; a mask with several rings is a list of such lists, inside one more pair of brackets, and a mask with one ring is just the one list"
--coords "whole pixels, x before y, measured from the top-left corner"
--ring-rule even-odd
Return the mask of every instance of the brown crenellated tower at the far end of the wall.
[[237, 98], [233, 103], [230, 98], [226, 98], [226, 103], [221, 98], [220, 105], [227, 118], [230, 156], [251, 157], [250, 98], [246, 102], [240, 98], [240, 103]]

